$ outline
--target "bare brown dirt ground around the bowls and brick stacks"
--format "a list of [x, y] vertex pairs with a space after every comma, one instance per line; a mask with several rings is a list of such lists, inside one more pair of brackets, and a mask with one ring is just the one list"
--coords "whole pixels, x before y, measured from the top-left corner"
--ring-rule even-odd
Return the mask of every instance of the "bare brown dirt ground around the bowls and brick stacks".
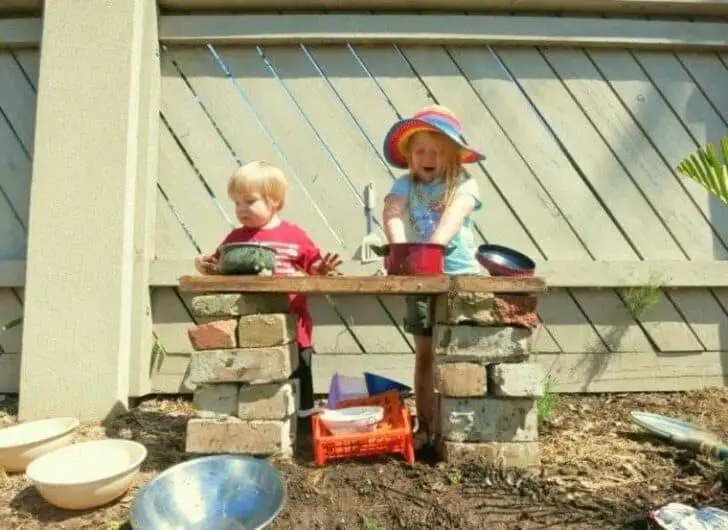
[[[315, 468], [306, 440], [295, 462], [278, 462], [287, 484], [272, 528], [602, 529], [647, 528], [646, 513], [671, 501], [728, 508], [716, 461], [654, 440], [629, 412], [680, 417], [728, 439], [728, 389], [673, 394], [557, 397], [541, 426], [541, 476], [482, 462], [459, 465], [394, 458]], [[0, 402], [0, 428], [15, 422], [16, 401]], [[107, 426], [88, 425], [78, 440], [132, 438], [149, 456], [138, 483], [119, 501], [87, 513], [47, 505], [23, 475], [0, 473], [0, 528], [129, 529], [134, 492], [185, 459], [192, 409], [184, 399], [150, 399]]]

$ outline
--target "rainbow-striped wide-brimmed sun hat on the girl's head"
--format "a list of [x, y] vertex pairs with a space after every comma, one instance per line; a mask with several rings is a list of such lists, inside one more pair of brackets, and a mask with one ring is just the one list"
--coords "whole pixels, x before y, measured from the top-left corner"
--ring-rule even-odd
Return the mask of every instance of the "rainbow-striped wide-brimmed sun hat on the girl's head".
[[444, 134], [455, 142], [460, 148], [460, 160], [463, 164], [485, 160], [483, 154], [465, 144], [461, 130], [460, 120], [447, 107], [441, 105], [426, 107], [411, 118], [400, 120], [392, 125], [384, 138], [384, 157], [393, 166], [406, 168], [407, 158], [404, 147], [407, 140], [415, 133], [430, 131]]

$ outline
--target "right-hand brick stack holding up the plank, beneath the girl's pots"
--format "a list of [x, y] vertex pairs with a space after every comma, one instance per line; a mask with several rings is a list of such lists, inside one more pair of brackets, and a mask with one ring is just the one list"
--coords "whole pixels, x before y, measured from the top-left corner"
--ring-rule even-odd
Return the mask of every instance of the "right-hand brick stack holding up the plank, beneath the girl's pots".
[[536, 307], [533, 295], [438, 297], [435, 386], [445, 460], [477, 454], [506, 467], [539, 468], [537, 400], [544, 374], [529, 362]]

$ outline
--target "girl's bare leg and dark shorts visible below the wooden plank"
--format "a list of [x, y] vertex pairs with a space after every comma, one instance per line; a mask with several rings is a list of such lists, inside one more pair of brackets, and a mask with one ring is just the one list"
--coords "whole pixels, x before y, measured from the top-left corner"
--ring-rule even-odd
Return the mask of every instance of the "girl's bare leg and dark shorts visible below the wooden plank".
[[415, 406], [419, 430], [426, 441], [433, 434], [435, 413], [435, 355], [432, 348], [430, 325], [430, 299], [427, 296], [407, 297], [405, 331], [414, 336], [415, 342]]

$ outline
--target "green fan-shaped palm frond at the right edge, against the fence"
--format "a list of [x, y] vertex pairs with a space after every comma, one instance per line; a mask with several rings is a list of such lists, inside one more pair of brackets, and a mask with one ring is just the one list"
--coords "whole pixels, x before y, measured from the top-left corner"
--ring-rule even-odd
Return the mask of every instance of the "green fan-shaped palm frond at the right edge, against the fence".
[[713, 144], [707, 144], [686, 156], [677, 171], [728, 204], [728, 136], [721, 138], [720, 148], [719, 153]]

